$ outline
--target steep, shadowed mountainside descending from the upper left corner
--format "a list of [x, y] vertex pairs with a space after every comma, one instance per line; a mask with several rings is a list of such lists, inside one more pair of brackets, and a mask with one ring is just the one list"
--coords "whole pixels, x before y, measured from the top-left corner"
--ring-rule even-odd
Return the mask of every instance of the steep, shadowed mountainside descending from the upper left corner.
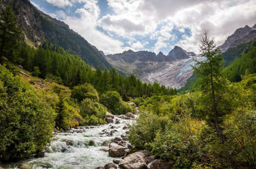
[[70, 54], [79, 55], [94, 68], [112, 68], [96, 47], [71, 30], [64, 22], [39, 11], [29, 0], [1, 0], [0, 12], [6, 6], [13, 8], [28, 44], [38, 46], [44, 39], [47, 39], [63, 47]]

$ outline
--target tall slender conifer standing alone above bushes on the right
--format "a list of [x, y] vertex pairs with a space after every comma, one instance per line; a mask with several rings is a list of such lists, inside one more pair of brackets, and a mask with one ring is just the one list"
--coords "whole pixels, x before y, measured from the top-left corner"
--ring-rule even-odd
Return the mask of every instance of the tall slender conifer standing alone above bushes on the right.
[[217, 109], [216, 96], [221, 94], [221, 91], [226, 87], [226, 81], [223, 74], [223, 58], [221, 56], [221, 51], [215, 45], [214, 39], [209, 39], [208, 32], [205, 31], [204, 37], [201, 40], [201, 45], [199, 45], [199, 51], [201, 56], [205, 57], [204, 61], [196, 62], [195, 66], [192, 66], [196, 75], [198, 75], [197, 85], [203, 93], [205, 101], [209, 101], [212, 106], [212, 111], [214, 113], [214, 127], [218, 132], [218, 135], [222, 137], [222, 132], [218, 124], [219, 113]]

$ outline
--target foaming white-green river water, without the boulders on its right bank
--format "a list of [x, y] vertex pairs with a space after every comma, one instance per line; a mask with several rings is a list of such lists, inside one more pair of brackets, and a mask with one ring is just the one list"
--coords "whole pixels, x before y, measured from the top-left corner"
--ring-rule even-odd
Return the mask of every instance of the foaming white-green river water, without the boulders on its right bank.
[[[115, 124], [116, 119], [120, 124]], [[9, 163], [4, 168], [17, 169], [21, 163], [29, 163], [33, 169], [94, 169], [105, 166], [114, 158], [108, 156], [108, 152], [103, 149], [108, 149], [108, 141], [111, 139], [125, 135], [127, 129], [124, 130], [123, 127], [132, 121], [115, 115], [113, 123], [110, 124], [79, 127], [57, 133], [44, 157]], [[89, 142], [94, 142], [93, 146], [89, 146]]]

